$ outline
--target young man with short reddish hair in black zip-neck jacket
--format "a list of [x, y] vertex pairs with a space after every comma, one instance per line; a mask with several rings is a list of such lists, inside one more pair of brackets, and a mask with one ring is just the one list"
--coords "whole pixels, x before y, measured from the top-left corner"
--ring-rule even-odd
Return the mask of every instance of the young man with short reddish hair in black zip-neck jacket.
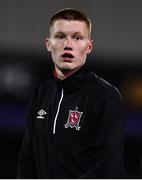
[[123, 177], [123, 100], [86, 66], [93, 47], [90, 20], [63, 9], [49, 30], [54, 79], [34, 92], [18, 178]]

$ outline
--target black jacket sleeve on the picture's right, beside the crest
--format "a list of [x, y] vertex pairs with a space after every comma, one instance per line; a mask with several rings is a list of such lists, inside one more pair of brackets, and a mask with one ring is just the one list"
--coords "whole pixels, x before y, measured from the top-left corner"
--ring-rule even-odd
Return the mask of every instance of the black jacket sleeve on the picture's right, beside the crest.
[[95, 152], [91, 167], [88, 167], [86, 172], [79, 177], [82, 179], [122, 178], [124, 176], [125, 106], [120, 94], [119, 98], [109, 95], [104, 99], [95, 106], [94, 113], [98, 117], [97, 123], [91, 130]]

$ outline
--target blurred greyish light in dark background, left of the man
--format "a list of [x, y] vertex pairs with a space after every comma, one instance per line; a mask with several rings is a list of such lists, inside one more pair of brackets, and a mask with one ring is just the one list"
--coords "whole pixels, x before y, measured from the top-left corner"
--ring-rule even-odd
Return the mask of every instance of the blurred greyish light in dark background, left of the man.
[[0, 94], [16, 99], [27, 98], [32, 84], [32, 76], [22, 65], [3, 65], [0, 67]]

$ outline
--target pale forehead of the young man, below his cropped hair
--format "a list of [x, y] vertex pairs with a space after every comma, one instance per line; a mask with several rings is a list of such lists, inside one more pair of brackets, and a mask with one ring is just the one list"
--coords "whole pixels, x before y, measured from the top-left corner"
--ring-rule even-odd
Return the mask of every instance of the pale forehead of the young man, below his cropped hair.
[[87, 33], [89, 29], [84, 21], [77, 21], [77, 20], [57, 20], [51, 27], [51, 34], [63, 32], [63, 33], [71, 33], [71, 32], [80, 32], [80, 33]]

